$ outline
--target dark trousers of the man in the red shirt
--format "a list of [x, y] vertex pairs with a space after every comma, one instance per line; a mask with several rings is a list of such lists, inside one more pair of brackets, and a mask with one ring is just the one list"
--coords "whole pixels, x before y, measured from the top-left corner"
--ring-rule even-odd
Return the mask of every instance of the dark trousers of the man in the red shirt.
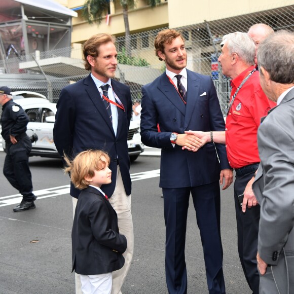
[[257, 269], [256, 254], [258, 249], [258, 232], [260, 221], [260, 205], [242, 208], [238, 201], [238, 195], [243, 194], [248, 181], [258, 169], [259, 164], [251, 164], [241, 169], [235, 169], [236, 179], [234, 183], [235, 210], [238, 233], [238, 252], [245, 278], [254, 294], [259, 293], [260, 276]]

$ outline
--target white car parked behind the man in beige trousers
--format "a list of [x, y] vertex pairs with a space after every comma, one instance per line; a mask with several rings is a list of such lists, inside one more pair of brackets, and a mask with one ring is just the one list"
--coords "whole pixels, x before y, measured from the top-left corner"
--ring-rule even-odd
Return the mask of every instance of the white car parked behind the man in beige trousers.
[[[44, 98], [18, 99], [16, 103], [24, 109], [29, 117], [28, 136], [33, 133], [38, 136], [38, 140], [32, 143], [30, 156], [60, 158], [53, 141], [56, 103], [51, 103]], [[3, 148], [5, 149], [5, 141], [3, 141]], [[128, 132], [128, 150], [131, 162], [135, 161], [144, 151], [139, 125], [132, 121]]]

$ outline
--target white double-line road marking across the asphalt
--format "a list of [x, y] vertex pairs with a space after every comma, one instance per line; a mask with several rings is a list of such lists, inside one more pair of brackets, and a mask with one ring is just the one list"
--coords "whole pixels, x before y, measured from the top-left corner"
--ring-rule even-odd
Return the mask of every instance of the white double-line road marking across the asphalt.
[[[160, 169], [133, 173], [131, 174], [131, 180], [135, 181], [135, 180], [153, 178], [158, 176], [160, 176]], [[38, 196], [37, 200], [40, 200], [43, 198], [69, 194], [69, 188], [70, 188], [70, 185], [65, 185], [65, 186], [59, 186], [54, 188], [37, 190], [37, 191], [33, 191], [33, 193], [35, 196]], [[0, 207], [17, 204], [17, 203], [20, 203], [21, 200], [22, 200], [21, 194], [3, 196], [3, 197], [0, 197]]]

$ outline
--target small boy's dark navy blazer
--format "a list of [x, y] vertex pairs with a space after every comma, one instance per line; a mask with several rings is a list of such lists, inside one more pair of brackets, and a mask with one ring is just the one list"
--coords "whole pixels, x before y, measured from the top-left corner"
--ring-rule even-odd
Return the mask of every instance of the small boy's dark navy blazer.
[[97, 275], [123, 267], [127, 239], [119, 234], [116, 211], [96, 188], [79, 195], [71, 238], [72, 271]]

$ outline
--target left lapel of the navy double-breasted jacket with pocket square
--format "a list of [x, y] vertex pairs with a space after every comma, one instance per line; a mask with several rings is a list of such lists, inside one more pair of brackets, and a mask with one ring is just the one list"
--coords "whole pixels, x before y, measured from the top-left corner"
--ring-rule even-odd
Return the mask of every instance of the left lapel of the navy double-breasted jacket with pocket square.
[[186, 106], [182, 102], [179, 94], [174, 86], [169, 82], [166, 73], [161, 75], [158, 89], [164, 94], [164, 96], [185, 116]]

